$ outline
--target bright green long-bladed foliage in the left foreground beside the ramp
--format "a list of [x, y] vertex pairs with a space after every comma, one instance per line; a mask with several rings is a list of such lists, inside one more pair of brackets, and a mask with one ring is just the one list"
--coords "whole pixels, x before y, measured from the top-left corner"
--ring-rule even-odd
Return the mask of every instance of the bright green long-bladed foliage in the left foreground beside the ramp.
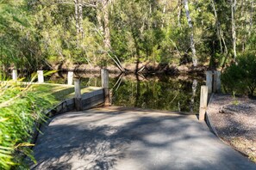
[[0, 84], [0, 169], [24, 166], [24, 155], [33, 160], [31, 137], [34, 124], [45, 120], [44, 112], [53, 106], [53, 96], [40, 88], [17, 82]]

